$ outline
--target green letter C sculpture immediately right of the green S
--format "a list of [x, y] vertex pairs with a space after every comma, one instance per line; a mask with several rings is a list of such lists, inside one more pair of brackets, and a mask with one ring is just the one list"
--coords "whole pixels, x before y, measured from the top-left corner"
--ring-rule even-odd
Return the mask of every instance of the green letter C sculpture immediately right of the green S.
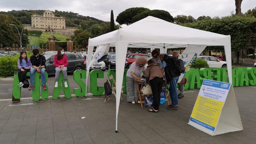
[[102, 95], [104, 93], [104, 86], [98, 86], [97, 79], [104, 78], [102, 70], [92, 70], [90, 72], [90, 86], [93, 95]]

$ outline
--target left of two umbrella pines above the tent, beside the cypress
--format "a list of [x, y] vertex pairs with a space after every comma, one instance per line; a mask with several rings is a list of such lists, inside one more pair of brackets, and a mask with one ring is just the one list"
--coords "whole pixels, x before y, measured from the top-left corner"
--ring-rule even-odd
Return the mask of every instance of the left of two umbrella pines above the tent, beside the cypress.
[[118, 14], [116, 17], [116, 22], [118, 22], [120, 25], [130, 25], [133, 23], [132, 17], [144, 11], [149, 11], [149, 9], [144, 7], [133, 7], [126, 9], [125, 11]]

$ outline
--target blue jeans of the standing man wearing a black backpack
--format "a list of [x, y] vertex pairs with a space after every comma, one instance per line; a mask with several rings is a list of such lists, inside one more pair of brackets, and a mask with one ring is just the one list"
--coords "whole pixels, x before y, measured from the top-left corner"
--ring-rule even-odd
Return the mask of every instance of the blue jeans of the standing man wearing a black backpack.
[[177, 83], [179, 76], [173, 76], [172, 81], [170, 82], [170, 97], [172, 100], [172, 106], [178, 107], [178, 92], [177, 92]]

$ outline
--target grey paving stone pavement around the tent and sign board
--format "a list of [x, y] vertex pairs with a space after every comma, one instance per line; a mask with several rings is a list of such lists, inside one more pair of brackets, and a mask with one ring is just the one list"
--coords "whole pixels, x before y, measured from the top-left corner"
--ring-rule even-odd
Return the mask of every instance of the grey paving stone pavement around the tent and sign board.
[[[199, 90], [187, 90], [185, 97], [179, 99], [179, 110], [162, 105], [158, 113], [127, 103], [123, 95], [118, 133], [114, 96], [106, 103], [103, 96], [94, 100], [21, 100], [15, 104], [0, 101], [0, 144], [255, 144], [256, 87], [234, 90], [244, 126], [239, 132], [210, 136], [188, 125]], [[17, 105], [25, 103], [33, 104]], [[85, 119], [81, 119], [83, 116]]]

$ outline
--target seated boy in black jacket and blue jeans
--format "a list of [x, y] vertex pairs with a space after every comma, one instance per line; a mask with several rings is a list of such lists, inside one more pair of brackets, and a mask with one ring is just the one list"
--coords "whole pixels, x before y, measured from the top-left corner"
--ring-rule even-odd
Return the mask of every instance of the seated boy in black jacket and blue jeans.
[[28, 88], [28, 90], [31, 91], [31, 90], [35, 89], [34, 79], [35, 79], [36, 71], [41, 73], [42, 87], [43, 87], [43, 90], [46, 90], [46, 86], [45, 86], [45, 83], [46, 83], [45, 62], [46, 62], [46, 60], [45, 60], [45, 57], [43, 55], [39, 54], [38, 49], [34, 49], [33, 54], [34, 55], [32, 55], [30, 57], [32, 68], [30, 70], [30, 87]]

